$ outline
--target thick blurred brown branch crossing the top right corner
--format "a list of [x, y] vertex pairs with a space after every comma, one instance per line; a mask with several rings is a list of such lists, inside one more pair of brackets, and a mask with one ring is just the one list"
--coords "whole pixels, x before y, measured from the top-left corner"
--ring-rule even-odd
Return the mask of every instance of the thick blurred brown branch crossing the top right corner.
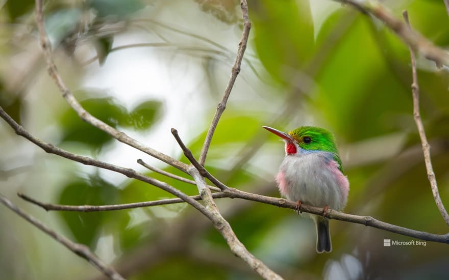
[[342, 4], [349, 4], [358, 10], [372, 14], [382, 20], [398, 37], [413, 49], [418, 50], [428, 60], [436, 63], [438, 68], [442, 65], [449, 66], [449, 53], [435, 46], [430, 40], [422, 36], [419, 32], [412, 30], [405, 22], [394, 17], [382, 4], [378, 1], [356, 1], [356, 0], [334, 0]]

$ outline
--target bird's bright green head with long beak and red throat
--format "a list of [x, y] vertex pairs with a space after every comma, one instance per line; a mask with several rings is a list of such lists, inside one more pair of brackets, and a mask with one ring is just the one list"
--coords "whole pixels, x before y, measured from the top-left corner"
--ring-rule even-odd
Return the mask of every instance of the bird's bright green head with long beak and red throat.
[[[327, 129], [316, 126], [301, 126], [285, 133], [277, 129], [264, 126], [266, 130], [280, 136], [285, 141], [285, 153], [287, 155], [297, 154], [304, 150], [306, 152], [323, 151], [332, 153], [341, 170], [341, 161], [338, 157], [335, 138]], [[301, 148], [298, 151], [298, 147]]]

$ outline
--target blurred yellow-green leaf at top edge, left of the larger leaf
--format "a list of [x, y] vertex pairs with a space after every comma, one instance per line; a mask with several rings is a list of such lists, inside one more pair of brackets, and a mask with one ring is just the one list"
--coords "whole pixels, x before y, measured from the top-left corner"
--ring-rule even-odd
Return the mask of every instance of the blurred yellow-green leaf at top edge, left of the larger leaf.
[[249, 8], [254, 42], [268, 73], [283, 83], [309, 59], [314, 46], [313, 21], [307, 0], [261, 0]]

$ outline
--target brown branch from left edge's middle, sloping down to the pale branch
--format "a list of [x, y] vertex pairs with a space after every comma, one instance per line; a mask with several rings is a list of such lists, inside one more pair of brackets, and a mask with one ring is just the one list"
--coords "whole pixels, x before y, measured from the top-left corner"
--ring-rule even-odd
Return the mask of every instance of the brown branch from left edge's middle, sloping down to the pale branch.
[[2, 117], [16, 132], [17, 135], [20, 135], [24, 138], [27, 138], [29, 141], [31, 141], [32, 143], [36, 144], [37, 146], [39, 146], [40, 148], [42, 148], [45, 152], [50, 153], [50, 154], [55, 154], [55, 155], [59, 155], [61, 157], [65, 157], [67, 159], [71, 159], [73, 161], [77, 161], [86, 165], [92, 165], [92, 166], [97, 166], [103, 169], [107, 169], [110, 171], [114, 171], [117, 173], [121, 173], [129, 178], [134, 178], [137, 179], [139, 181], [154, 185], [158, 188], [161, 188], [173, 195], [175, 195], [176, 197], [184, 200], [185, 202], [189, 203], [190, 205], [192, 205], [194, 208], [196, 208], [199, 212], [203, 213], [204, 215], [206, 215], [206, 217], [211, 218], [211, 213], [201, 204], [199, 204], [197, 201], [195, 201], [194, 199], [190, 198], [187, 194], [185, 194], [184, 192], [180, 191], [177, 188], [174, 188], [170, 185], [168, 185], [167, 183], [161, 182], [159, 180], [156, 180], [154, 178], [145, 176], [143, 174], [138, 173], [137, 171], [133, 170], [133, 169], [129, 169], [129, 168], [125, 168], [125, 167], [121, 167], [118, 165], [114, 165], [114, 164], [110, 164], [104, 161], [100, 161], [100, 160], [96, 160], [90, 157], [86, 157], [86, 156], [80, 156], [77, 154], [73, 154], [70, 152], [67, 152], [61, 148], [55, 147], [52, 144], [48, 144], [43, 142], [41, 139], [38, 139], [36, 137], [34, 137], [33, 135], [31, 135], [27, 130], [25, 130], [22, 126], [20, 126], [19, 124], [17, 124], [6, 112], [5, 110], [0, 106], [0, 117]]

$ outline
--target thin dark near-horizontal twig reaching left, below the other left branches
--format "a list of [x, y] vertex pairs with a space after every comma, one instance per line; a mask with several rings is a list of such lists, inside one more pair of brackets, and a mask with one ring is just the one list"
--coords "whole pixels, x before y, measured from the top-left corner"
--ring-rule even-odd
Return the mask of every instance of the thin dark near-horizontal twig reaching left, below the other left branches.
[[[20, 192], [17, 193], [17, 195], [21, 199], [28, 201], [32, 204], [35, 204], [39, 207], [42, 207], [46, 211], [100, 212], [100, 211], [115, 211], [122, 209], [133, 209], [140, 207], [150, 207], [150, 206], [168, 205], [185, 202], [184, 200], [177, 198], [177, 199], [163, 199], [156, 201], [145, 201], [145, 202], [135, 202], [135, 203], [125, 203], [115, 205], [62, 205], [62, 204], [51, 204], [40, 202]], [[215, 192], [212, 193], [212, 197], [215, 199], [221, 199], [228, 197], [228, 194], [224, 192]], [[196, 201], [201, 200], [201, 197], [199, 195], [192, 195], [190, 198]]]

